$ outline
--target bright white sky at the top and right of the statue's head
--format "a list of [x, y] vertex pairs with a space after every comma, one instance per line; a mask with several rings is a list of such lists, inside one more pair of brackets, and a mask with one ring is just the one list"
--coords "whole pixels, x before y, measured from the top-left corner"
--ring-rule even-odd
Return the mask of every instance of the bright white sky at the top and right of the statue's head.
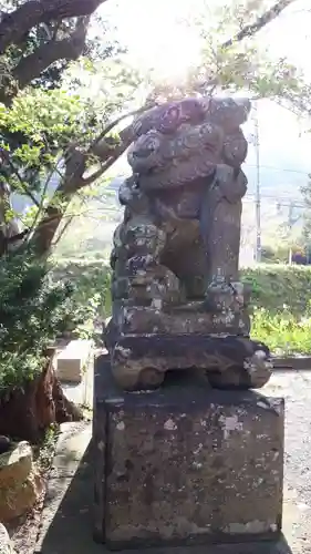
[[[262, 0], [271, 6], [272, 0]], [[206, 28], [212, 24], [211, 13], [229, 0], [108, 0], [101, 14], [117, 28], [123, 43], [127, 44], [132, 62], [141, 69], [153, 66], [158, 76], [178, 80], [191, 66], [200, 50], [194, 25], [195, 13], [203, 13]], [[311, 6], [310, 0], [297, 0], [293, 8], [284, 10], [276, 21], [267, 25], [257, 39], [273, 58], [286, 57], [311, 80]], [[260, 132], [260, 162], [262, 172], [271, 178], [297, 183], [297, 188], [311, 171], [311, 122], [299, 120], [294, 114], [270, 101], [258, 103]], [[253, 121], [246, 133], [253, 132]], [[310, 162], [309, 162], [310, 160]], [[249, 146], [247, 166], [256, 163], [253, 146]], [[121, 162], [124, 166], [124, 161]], [[270, 167], [270, 168], [269, 168]], [[274, 167], [273, 170], [271, 167]], [[251, 176], [253, 178], [253, 176]]]

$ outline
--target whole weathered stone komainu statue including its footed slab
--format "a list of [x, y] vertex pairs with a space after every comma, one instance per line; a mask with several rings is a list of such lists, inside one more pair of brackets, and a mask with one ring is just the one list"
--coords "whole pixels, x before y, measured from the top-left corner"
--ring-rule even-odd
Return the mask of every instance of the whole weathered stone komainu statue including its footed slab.
[[269, 379], [269, 351], [249, 339], [238, 280], [247, 191], [240, 125], [249, 112], [248, 100], [189, 98], [133, 123], [105, 339], [126, 389], [158, 386], [165, 371], [186, 368], [207, 371], [215, 387]]

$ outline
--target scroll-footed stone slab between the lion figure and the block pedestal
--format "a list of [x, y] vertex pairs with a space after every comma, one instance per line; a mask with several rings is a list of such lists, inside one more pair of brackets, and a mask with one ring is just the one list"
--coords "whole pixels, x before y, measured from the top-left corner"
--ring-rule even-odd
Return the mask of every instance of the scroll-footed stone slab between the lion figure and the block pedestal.
[[126, 390], [159, 386], [168, 370], [196, 368], [218, 388], [261, 388], [272, 363], [269, 349], [245, 337], [212, 335], [127, 335], [112, 353], [112, 370]]

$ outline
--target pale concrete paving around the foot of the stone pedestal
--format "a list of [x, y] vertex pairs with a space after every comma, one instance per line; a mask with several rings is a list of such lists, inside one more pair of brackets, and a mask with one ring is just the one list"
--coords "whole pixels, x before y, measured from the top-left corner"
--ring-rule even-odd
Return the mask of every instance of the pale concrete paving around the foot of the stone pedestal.
[[[91, 401], [91, 375], [85, 394]], [[89, 384], [87, 384], [89, 383]], [[311, 373], [278, 372], [265, 391], [284, 396], [286, 480], [283, 533], [278, 544], [191, 547], [191, 554], [311, 554]], [[70, 391], [73, 398], [73, 389]], [[92, 538], [92, 423], [64, 424], [42, 514], [37, 554], [100, 554], [104, 545]], [[187, 554], [188, 548], [166, 548]], [[133, 552], [133, 551], [132, 551]], [[158, 548], [147, 551], [160, 554]]]

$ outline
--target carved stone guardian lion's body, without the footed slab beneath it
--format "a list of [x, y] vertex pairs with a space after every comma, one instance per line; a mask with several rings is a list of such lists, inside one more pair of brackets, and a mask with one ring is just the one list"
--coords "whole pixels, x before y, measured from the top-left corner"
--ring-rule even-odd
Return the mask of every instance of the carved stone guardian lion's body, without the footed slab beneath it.
[[[113, 299], [124, 308], [151, 307], [162, 316], [165, 307], [204, 299], [220, 271], [229, 291], [221, 309], [227, 319], [235, 311], [247, 188], [240, 125], [249, 111], [248, 100], [188, 98], [134, 121], [133, 176], [120, 189], [125, 214], [111, 259]], [[218, 332], [221, 324], [224, 317]]]

